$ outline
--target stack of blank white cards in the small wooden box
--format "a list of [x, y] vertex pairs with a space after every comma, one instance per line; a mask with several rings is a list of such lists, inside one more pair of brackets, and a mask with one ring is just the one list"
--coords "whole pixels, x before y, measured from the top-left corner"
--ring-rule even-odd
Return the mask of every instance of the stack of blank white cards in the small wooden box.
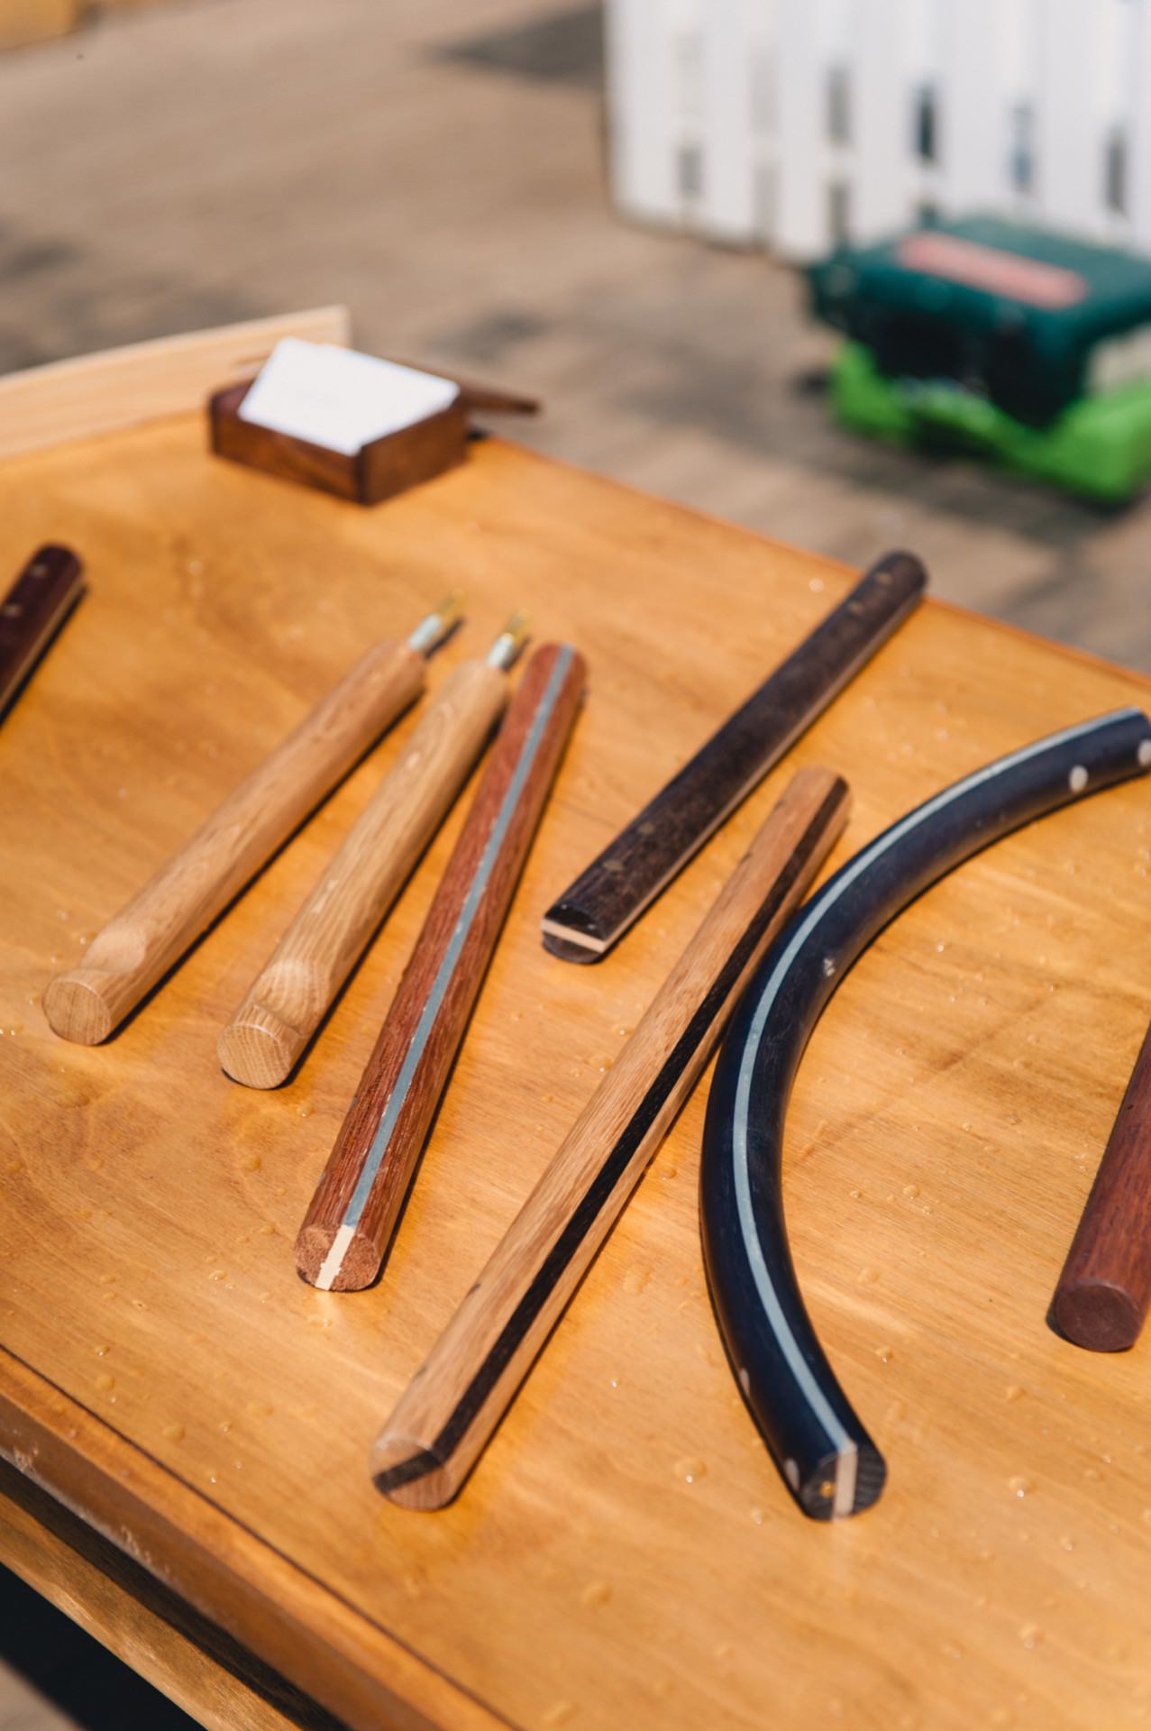
[[334, 343], [286, 336], [241, 403], [241, 421], [355, 454], [447, 409], [459, 384]]

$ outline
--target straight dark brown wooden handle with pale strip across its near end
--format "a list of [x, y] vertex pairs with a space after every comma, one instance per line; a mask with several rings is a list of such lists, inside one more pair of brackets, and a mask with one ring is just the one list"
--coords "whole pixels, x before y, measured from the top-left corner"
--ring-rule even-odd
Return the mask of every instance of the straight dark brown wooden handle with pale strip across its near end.
[[543, 945], [597, 962], [923, 601], [914, 554], [879, 559], [543, 916]]

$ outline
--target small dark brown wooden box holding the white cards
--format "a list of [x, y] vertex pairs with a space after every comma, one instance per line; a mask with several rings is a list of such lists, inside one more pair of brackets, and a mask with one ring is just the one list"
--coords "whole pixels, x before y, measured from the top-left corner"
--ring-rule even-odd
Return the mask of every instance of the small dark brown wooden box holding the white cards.
[[419, 481], [455, 469], [467, 454], [469, 396], [464, 389], [438, 414], [370, 440], [355, 457], [348, 457], [325, 445], [312, 445], [242, 421], [239, 407], [253, 384], [254, 379], [232, 384], [209, 400], [211, 448], [220, 457], [232, 457], [234, 462], [265, 469], [286, 481], [303, 481], [362, 505], [377, 505]]

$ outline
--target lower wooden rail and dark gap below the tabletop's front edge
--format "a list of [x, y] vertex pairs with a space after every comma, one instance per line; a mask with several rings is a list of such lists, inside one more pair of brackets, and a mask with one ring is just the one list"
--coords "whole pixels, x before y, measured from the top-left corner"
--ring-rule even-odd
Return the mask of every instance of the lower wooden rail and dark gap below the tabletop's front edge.
[[206, 1731], [341, 1731], [331, 1714], [7, 1463], [0, 1463], [0, 1554]]

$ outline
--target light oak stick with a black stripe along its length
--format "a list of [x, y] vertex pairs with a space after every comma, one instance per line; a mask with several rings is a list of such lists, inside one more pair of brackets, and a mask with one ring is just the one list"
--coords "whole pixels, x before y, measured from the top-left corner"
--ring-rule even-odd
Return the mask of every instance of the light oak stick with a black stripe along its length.
[[846, 814], [827, 770], [791, 781], [384, 1425], [372, 1477], [393, 1503], [460, 1489]]

